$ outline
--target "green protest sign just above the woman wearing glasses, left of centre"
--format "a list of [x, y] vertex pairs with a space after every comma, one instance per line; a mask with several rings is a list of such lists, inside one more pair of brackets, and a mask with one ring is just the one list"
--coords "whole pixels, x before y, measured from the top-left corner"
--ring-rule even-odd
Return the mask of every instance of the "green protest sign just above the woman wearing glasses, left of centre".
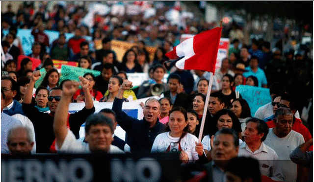
[[70, 79], [78, 82], [79, 81], [78, 76], [83, 76], [85, 73], [92, 73], [95, 77], [101, 74], [100, 71], [96, 70], [62, 65], [61, 76], [59, 80], [61, 82], [62, 80]]

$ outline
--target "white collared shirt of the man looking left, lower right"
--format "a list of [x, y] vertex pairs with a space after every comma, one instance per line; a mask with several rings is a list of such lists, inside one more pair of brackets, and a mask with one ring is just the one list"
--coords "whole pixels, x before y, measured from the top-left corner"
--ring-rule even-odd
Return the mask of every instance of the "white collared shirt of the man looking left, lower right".
[[279, 166], [278, 155], [269, 146], [262, 142], [259, 149], [252, 152], [248, 145], [243, 142], [239, 146], [238, 156], [252, 157], [259, 160], [261, 174], [272, 180], [283, 182], [283, 174]]

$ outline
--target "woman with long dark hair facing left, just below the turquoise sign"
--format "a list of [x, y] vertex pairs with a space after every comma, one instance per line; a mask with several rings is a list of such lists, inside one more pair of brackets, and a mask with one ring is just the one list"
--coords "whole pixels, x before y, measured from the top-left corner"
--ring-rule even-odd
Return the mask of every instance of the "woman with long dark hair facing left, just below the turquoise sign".
[[241, 123], [241, 129], [244, 131], [246, 127], [246, 120], [252, 117], [249, 104], [246, 102], [246, 100], [237, 98], [231, 103], [230, 110], [234, 112], [236, 117], [239, 119]]

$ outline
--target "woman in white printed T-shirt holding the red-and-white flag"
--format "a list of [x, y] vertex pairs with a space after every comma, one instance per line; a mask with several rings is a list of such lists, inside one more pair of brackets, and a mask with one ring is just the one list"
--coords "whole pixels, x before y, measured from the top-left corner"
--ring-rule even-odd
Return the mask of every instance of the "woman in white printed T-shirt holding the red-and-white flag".
[[197, 137], [187, 132], [187, 114], [182, 107], [175, 107], [169, 113], [166, 132], [157, 135], [154, 140], [152, 153], [180, 153], [183, 163], [198, 160], [195, 151]]

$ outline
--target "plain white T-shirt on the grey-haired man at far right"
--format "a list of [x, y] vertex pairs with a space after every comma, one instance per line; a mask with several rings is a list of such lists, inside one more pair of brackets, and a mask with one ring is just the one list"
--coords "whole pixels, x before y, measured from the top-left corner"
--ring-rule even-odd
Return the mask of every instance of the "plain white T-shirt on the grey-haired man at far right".
[[284, 181], [296, 182], [297, 164], [291, 161], [289, 155], [296, 147], [304, 143], [303, 136], [291, 130], [286, 137], [280, 138], [274, 134], [273, 128], [271, 128], [269, 129], [264, 143], [277, 153], [279, 165], [282, 167]]

